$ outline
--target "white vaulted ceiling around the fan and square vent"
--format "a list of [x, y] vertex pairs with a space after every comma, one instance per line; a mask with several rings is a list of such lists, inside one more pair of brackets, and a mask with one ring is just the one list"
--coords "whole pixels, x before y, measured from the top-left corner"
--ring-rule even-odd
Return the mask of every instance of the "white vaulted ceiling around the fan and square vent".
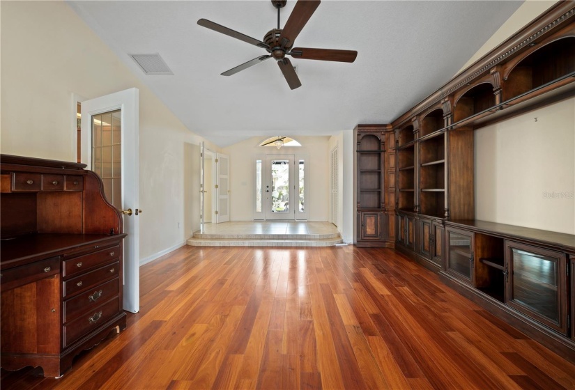
[[[197, 25], [205, 18], [263, 40], [277, 25], [269, 0], [69, 1], [190, 131], [221, 147], [390, 123], [449, 81], [521, 3], [324, 0], [294, 46], [358, 58], [291, 59], [302, 82], [291, 91], [273, 60], [220, 76], [266, 51]], [[282, 9], [282, 26], [294, 4]], [[134, 53], [160, 54], [174, 75], [144, 75]]]

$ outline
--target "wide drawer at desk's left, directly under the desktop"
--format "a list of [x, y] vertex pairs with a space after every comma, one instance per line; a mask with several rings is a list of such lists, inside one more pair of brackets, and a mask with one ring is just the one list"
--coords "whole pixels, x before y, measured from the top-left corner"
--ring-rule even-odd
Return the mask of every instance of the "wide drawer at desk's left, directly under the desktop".
[[36, 263], [10, 268], [1, 272], [1, 290], [11, 290], [24, 284], [32, 283], [60, 272], [60, 258], [53, 257]]

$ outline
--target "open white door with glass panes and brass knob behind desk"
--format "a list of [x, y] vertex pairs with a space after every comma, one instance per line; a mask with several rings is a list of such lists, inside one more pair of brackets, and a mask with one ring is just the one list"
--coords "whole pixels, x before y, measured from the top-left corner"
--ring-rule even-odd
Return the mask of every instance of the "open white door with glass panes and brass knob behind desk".
[[130, 88], [82, 102], [82, 162], [104, 182], [123, 212], [123, 309], [139, 311], [139, 91]]

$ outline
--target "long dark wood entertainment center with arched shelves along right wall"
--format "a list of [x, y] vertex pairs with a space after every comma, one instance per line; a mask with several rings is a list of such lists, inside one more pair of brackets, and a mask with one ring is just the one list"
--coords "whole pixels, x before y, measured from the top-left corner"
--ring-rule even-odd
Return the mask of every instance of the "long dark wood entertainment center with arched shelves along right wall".
[[[444, 283], [575, 362], [575, 235], [475, 220], [474, 183], [475, 131], [573, 96], [575, 1], [560, 1], [391, 125], [358, 125], [355, 185], [358, 247], [362, 194], [380, 188], [394, 231], [381, 223], [369, 246], [394, 237]], [[363, 130], [390, 127], [395, 144], [378, 151], [382, 171], [394, 158], [394, 178], [367, 182]], [[383, 201], [389, 187], [394, 207]]]

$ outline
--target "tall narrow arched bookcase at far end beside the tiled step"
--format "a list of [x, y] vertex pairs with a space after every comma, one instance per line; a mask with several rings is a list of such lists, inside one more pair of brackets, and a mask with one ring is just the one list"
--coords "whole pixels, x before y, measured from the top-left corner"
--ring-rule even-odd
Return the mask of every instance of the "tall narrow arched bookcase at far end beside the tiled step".
[[392, 128], [389, 125], [358, 125], [355, 134], [358, 141], [355, 176], [358, 234], [355, 244], [358, 247], [390, 247], [395, 240], [395, 208], [393, 203], [390, 205], [395, 193], [395, 155], [394, 148], [386, 154], [385, 139], [394, 140]]

